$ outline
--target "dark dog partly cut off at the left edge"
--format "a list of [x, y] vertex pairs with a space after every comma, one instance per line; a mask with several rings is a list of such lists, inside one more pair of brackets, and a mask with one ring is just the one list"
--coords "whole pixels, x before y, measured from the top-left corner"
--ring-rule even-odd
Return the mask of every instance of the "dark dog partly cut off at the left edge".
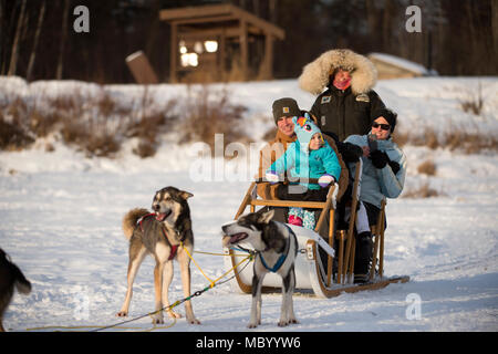
[[18, 266], [12, 263], [7, 253], [0, 248], [0, 332], [3, 329], [3, 313], [13, 296], [14, 287], [22, 294], [31, 292], [31, 283], [25, 279]]

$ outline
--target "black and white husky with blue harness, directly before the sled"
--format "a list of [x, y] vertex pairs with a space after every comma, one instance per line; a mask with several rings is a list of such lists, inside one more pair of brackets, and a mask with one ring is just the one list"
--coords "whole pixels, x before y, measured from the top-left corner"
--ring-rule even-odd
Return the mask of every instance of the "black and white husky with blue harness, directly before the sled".
[[282, 308], [279, 326], [298, 323], [292, 304], [295, 288], [294, 260], [298, 239], [284, 223], [272, 221], [273, 210], [251, 212], [232, 223], [225, 225], [224, 247], [249, 243], [257, 252], [252, 277], [252, 306], [248, 327], [261, 324], [261, 288], [268, 272], [282, 277]]

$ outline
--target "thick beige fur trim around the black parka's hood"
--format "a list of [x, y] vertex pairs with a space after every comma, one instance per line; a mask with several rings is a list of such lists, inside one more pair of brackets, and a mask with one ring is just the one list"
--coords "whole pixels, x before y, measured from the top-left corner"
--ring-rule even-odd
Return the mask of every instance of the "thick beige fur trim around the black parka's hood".
[[352, 71], [351, 91], [353, 94], [367, 93], [377, 81], [377, 70], [366, 56], [347, 49], [335, 49], [324, 52], [307, 64], [299, 86], [314, 95], [319, 95], [329, 85], [330, 74], [338, 67]]

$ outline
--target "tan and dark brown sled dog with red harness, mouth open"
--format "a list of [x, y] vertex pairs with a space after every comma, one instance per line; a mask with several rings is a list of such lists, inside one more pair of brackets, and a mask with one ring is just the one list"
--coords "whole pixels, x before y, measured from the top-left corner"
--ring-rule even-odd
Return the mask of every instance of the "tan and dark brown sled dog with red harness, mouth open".
[[[173, 280], [173, 260], [180, 267], [181, 284], [185, 298], [190, 295], [190, 259], [194, 250], [194, 233], [191, 231], [190, 209], [187, 199], [193, 197], [188, 191], [175, 187], [166, 187], [156, 191], [152, 204], [154, 212], [135, 208], [123, 218], [123, 231], [129, 241], [129, 261], [127, 272], [126, 298], [117, 312], [117, 316], [128, 314], [133, 293], [133, 281], [146, 254], [152, 254], [156, 261], [154, 268], [155, 313], [153, 323], [164, 323], [163, 311], [170, 317], [180, 315], [169, 309], [168, 288]], [[188, 253], [187, 253], [188, 251]], [[190, 301], [185, 301], [185, 312], [188, 323], [199, 324], [194, 316]]]

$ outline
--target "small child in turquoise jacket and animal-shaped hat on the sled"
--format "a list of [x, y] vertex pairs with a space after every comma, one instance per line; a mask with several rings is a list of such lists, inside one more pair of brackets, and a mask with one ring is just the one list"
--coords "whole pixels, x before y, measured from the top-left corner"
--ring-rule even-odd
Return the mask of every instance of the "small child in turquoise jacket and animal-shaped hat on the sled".
[[[287, 188], [279, 188], [280, 199], [323, 201], [326, 198], [326, 187], [339, 180], [341, 175], [338, 156], [308, 113], [304, 117], [293, 117], [292, 121], [297, 140], [267, 169], [267, 179], [276, 183], [279, 175], [289, 171], [290, 178], [297, 178], [298, 181]], [[309, 178], [318, 178], [319, 184], [309, 184]], [[314, 229], [314, 210], [290, 208], [289, 223]]]

